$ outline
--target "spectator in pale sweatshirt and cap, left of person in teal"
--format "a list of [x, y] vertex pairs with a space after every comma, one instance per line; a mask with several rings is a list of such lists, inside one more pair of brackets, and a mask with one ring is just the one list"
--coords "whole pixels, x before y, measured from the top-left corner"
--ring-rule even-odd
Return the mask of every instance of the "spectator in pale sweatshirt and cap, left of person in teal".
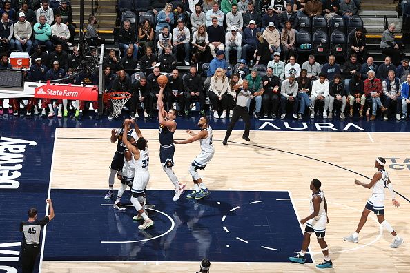
[[16, 49], [19, 50], [19, 52], [27, 52], [30, 54], [32, 49], [32, 28], [31, 24], [26, 21], [26, 14], [24, 14], [24, 12], [19, 12], [19, 21], [14, 23], [13, 30]]

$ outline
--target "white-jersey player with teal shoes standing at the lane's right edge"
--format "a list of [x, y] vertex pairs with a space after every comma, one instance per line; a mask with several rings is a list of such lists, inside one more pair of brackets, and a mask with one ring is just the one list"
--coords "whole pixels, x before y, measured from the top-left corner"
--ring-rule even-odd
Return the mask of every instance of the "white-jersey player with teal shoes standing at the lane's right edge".
[[331, 268], [333, 263], [329, 258], [329, 250], [326, 241], [324, 241], [324, 235], [326, 234], [326, 224], [329, 223], [327, 218], [327, 203], [324, 198], [324, 192], [320, 190], [322, 183], [318, 179], [313, 179], [311, 181], [310, 188], [312, 190], [311, 195], [311, 215], [300, 220], [303, 225], [306, 223], [306, 228], [304, 229], [302, 248], [300, 253], [296, 256], [289, 257], [289, 260], [293, 263], [304, 263], [305, 254], [308, 250], [309, 243], [311, 241], [311, 234], [315, 232], [316, 238], [320, 248], [322, 248], [322, 253], [324, 255], [324, 262], [316, 265], [318, 268]]

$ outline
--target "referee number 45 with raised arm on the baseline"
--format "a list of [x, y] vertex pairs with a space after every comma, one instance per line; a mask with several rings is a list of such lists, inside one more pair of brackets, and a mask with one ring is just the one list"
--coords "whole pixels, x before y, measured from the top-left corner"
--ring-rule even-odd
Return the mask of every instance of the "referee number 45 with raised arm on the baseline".
[[20, 223], [20, 232], [24, 234], [19, 257], [23, 273], [33, 272], [37, 256], [41, 250], [41, 229], [54, 218], [54, 208], [52, 208], [51, 199], [46, 199], [46, 202], [50, 205], [50, 215], [38, 220], [37, 209], [30, 208], [28, 210], [28, 221]]

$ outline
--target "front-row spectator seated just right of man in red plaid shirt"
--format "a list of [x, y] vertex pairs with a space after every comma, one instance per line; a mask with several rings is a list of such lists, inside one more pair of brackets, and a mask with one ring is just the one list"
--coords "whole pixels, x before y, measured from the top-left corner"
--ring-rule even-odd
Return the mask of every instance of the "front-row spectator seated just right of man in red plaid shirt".
[[[393, 70], [389, 71], [387, 79], [382, 81], [382, 88], [383, 88], [383, 105], [387, 108], [387, 111], [384, 111], [384, 121], [389, 119], [389, 114], [393, 114], [393, 110], [396, 109], [396, 117], [400, 120], [400, 112], [402, 110], [402, 101], [400, 99], [400, 79], [396, 77], [396, 72]], [[396, 107], [393, 105], [396, 104]]]

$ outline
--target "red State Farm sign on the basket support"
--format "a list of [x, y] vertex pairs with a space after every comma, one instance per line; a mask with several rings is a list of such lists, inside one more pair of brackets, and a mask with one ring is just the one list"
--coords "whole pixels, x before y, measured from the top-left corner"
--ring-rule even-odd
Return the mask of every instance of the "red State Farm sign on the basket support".
[[35, 88], [35, 98], [97, 101], [97, 86], [50, 84]]

